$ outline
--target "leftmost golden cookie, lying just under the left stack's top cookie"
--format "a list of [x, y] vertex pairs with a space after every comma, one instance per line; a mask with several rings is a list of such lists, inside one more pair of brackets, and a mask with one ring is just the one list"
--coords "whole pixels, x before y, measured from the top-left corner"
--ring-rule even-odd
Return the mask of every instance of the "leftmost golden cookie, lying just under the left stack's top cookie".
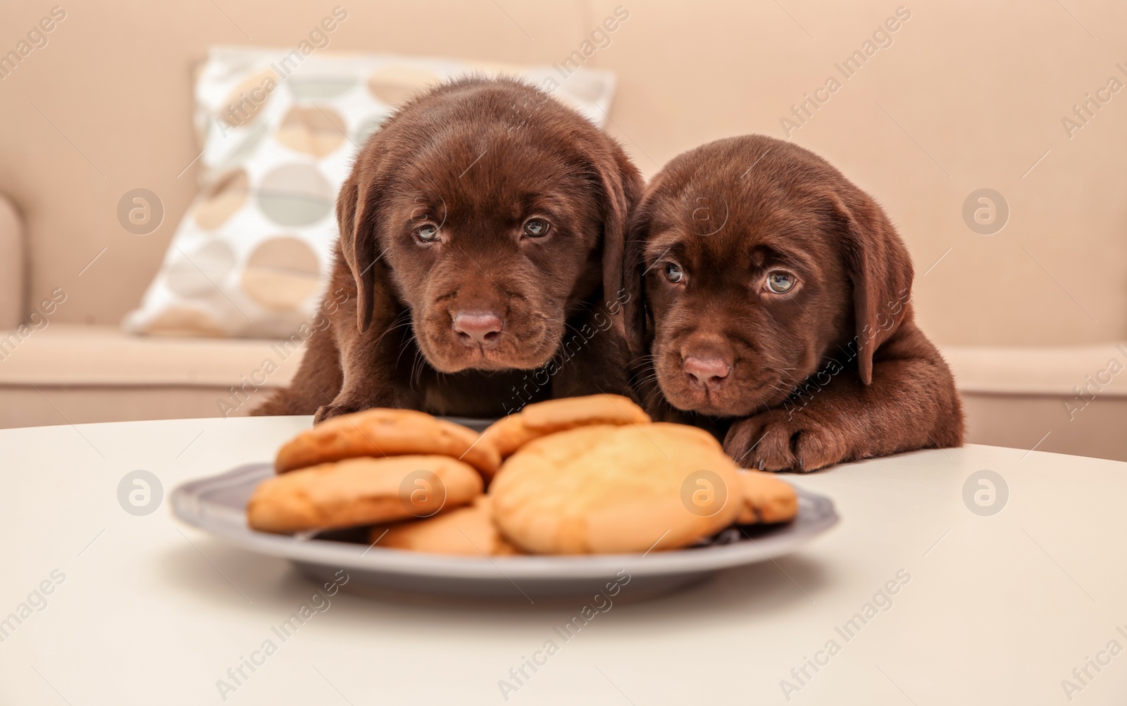
[[481, 475], [450, 456], [347, 458], [263, 481], [247, 522], [274, 533], [389, 522], [465, 504], [481, 489]]

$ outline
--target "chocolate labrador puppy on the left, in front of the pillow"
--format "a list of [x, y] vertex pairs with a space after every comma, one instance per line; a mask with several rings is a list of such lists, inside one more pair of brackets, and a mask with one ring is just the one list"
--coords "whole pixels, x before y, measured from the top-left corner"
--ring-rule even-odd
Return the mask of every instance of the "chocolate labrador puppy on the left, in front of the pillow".
[[254, 413], [499, 417], [627, 391], [621, 262], [641, 188], [616, 142], [520, 81], [410, 100], [337, 198], [330, 323]]

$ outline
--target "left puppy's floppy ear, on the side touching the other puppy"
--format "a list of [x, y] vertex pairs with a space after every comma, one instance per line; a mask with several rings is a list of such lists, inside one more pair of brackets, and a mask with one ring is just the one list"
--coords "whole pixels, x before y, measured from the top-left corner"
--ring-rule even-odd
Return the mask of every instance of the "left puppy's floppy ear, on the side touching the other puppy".
[[603, 298], [611, 303], [629, 294], [622, 292], [622, 256], [630, 214], [641, 199], [642, 180], [622, 148], [610, 138], [607, 142], [605, 157], [596, 158], [594, 167], [603, 212]]

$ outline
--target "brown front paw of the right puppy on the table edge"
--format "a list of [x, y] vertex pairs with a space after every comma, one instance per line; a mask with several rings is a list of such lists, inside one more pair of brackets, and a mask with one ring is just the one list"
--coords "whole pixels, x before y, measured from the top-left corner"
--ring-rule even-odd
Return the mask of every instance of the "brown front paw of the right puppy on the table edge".
[[769, 410], [731, 425], [724, 450], [745, 468], [806, 473], [845, 461], [849, 446], [840, 431], [806, 414]]

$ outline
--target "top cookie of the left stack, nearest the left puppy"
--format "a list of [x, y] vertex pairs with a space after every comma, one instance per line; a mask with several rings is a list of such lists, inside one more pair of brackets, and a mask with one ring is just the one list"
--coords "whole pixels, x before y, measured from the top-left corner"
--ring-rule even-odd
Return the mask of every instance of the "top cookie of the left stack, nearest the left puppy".
[[500, 465], [500, 456], [492, 446], [478, 444], [478, 439], [471, 429], [426, 412], [364, 410], [302, 431], [278, 450], [274, 470], [286, 473], [357, 456], [442, 454], [464, 461], [490, 477]]

